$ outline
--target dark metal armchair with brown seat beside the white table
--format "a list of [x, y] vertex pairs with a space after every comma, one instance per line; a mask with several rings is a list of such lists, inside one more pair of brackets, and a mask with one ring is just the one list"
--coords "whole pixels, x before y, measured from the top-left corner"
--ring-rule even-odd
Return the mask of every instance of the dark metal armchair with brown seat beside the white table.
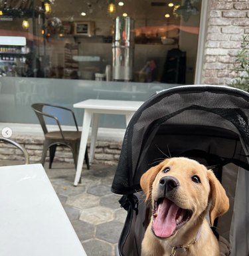
[[[50, 110], [58, 110], [58, 111], [68, 111], [72, 114], [72, 118], [74, 120], [74, 124], [76, 127], [75, 131], [62, 131], [62, 127], [60, 125], [59, 119], [57, 116], [53, 116], [52, 114], [48, 114], [47, 112], [43, 111], [43, 107], [49, 107]], [[77, 161], [78, 161], [78, 152], [80, 148], [80, 137], [81, 132], [78, 130], [78, 124], [76, 122], [76, 118], [74, 115], [74, 112], [70, 110], [69, 108], [65, 108], [63, 106], [58, 106], [54, 104], [46, 104], [46, 103], [35, 103], [31, 106], [33, 110], [35, 111], [35, 114], [37, 114], [37, 117], [39, 119], [39, 122], [42, 126], [42, 130], [44, 132], [45, 140], [44, 140], [44, 146], [42, 151], [42, 159], [41, 164], [44, 166], [44, 162], [46, 160], [46, 152], [49, 148], [49, 168], [52, 167], [52, 162], [54, 160], [54, 154], [56, 152], [57, 146], [66, 146], [70, 148], [72, 151], [72, 156], [74, 158], [74, 166], [77, 167]], [[48, 132], [47, 123], [45, 121], [44, 117], [52, 118], [55, 120], [56, 124], [58, 125], [57, 131]], [[86, 166], [88, 170], [90, 169], [89, 165], [89, 158], [88, 158], [88, 150], [86, 149], [85, 154], [85, 161]]]

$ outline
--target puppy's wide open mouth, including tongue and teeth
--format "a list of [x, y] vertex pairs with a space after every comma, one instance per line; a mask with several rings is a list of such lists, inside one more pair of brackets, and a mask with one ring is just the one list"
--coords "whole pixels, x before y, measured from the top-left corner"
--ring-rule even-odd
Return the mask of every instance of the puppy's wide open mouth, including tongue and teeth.
[[191, 218], [189, 209], [182, 209], [167, 198], [155, 201], [152, 229], [157, 237], [170, 237]]

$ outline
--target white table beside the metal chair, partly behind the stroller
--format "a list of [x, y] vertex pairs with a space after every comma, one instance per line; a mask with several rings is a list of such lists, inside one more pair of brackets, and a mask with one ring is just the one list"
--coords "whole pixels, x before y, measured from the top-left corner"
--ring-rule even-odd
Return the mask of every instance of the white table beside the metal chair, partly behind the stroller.
[[82, 135], [80, 139], [80, 151], [78, 155], [78, 164], [76, 176], [74, 179], [74, 186], [78, 185], [82, 172], [84, 156], [86, 152], [86, 145], [88, 142], [88, 134], [90, 124], [92, 121], [92, 138], [90, 144], [90, 163], [94, 160], [96, 137], [98, 133], [98, 126], [100, 114], [124, 114], [126, 118], [126, 126], [129, 124], [131, 116], [141, 106], [141, 101], [129, 100], [84, 100], [74, 104], [74, 108], [84, 108], [84, 118], [82, 124]]

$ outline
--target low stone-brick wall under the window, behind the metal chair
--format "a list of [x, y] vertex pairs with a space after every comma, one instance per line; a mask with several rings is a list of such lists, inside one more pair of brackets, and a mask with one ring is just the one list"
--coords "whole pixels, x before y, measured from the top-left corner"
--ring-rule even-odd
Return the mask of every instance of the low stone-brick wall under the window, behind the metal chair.
[[[12, 140], [19, 142], [29, 153], [30, 161], [37, 163], [41, 161], [43, 136], [15, 135]], [[88, 150], [89, 150], [88, 145]], [[95, 164], [114, 165], [118, 163], [122, 142], [116, 141], [98, 141], [96, 142]], [[48, 155], [47, 155], [48, 156]], [[9, 144], [0, 143], [0, 161], [1, 160], [24, 160], [23, 153], [18, 148]], [[48, 161], [48, 159], [47, 159]], [[74, 164], [72, 152], [69, 148], [60, 146], [56, 149], [54, 162], [70, 162]]]

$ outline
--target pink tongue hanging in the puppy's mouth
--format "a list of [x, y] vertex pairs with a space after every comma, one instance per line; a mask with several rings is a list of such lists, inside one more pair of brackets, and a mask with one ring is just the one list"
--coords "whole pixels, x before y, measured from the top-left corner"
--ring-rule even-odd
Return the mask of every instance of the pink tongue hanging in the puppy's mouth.
[[153, 230], [157, 237], [170, 237], [177, 224], [175, 219], [179, 207], [169, 199], [163, 199], [163, 202], [158, 205], [157, 217], [153, 221]]

